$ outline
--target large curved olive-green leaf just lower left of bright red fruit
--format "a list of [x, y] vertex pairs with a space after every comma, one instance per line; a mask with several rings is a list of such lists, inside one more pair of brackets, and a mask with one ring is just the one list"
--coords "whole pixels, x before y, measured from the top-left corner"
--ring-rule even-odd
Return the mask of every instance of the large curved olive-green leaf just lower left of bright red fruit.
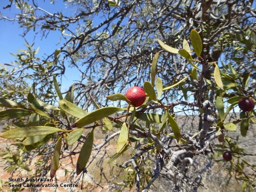
[[75, 124], [72, 125], [72, 127], [83, 127], [84, 125], [88, 125], [90, 123], [93, 123], [99, 119], [102, 119], [104, 117], [107, 117], [109, 115], [112, 115], [114, 113], [120, 112], [125, 110], [124, 108], [120, 107], [104, 107], [97, 109], [88, 115], [84, 116], [83, 118], [76, 121]]

